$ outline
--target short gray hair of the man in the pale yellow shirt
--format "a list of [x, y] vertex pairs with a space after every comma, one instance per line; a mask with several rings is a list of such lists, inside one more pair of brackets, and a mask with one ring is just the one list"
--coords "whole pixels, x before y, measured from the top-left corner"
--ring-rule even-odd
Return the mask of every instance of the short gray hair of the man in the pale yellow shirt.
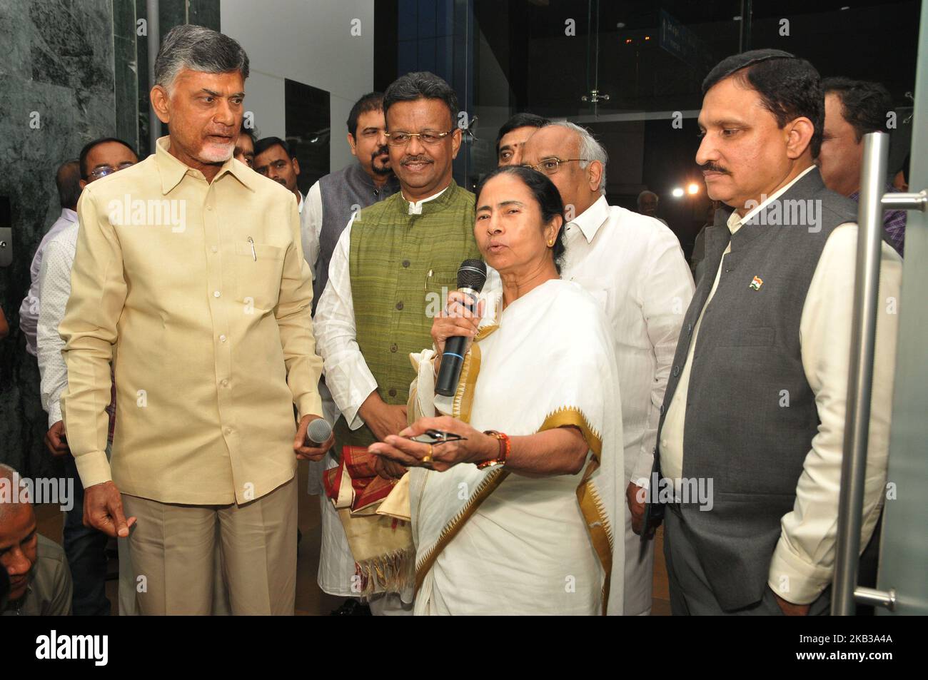
[[181, 24], [164, 36], [155, 59], [155, 84], [166, 90], [182, 69], [201, 73], [239, 71], [248, 78], [248, 55], [223, 33], [203, 26]]

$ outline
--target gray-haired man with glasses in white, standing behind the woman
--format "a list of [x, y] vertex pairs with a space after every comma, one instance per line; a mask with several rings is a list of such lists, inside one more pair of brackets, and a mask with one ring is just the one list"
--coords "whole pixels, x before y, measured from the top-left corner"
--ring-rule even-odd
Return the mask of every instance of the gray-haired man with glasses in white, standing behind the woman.
[[[693, 295], [690, 267], [664, 224], [606, 202], [606, 152], [583, 128], [563, 122], [541, 128], [526, 142], [522, 161], [546, 174], [557, 169], [548, 178], [568, 219], [561, 278], [592, 294], [612, 325], [622, 386], [623, 487], [634, 496], [651, 475], [667, 377]], [[626, 615], [651, 612], [653, 563], [653, 542], [632, 531], [625, 507]]]

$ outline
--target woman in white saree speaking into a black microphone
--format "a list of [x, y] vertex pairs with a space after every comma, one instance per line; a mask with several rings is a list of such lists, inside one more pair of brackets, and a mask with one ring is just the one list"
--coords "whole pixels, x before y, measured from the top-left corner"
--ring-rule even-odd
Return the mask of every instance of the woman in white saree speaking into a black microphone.
[[[507, 167], [483, 180], [474, 234], [499, 274], [483, 315], [449, 296], [435, 349], [412, 357], [410, 402], [423, 417], [370, 446], [410, 467], [417, 614], [622, 612], [616, 366], [599, 304], [558, 275], [562, 210], [541, 173]], [[473, 342], [458, 391], [437, 396], [445, 340], [460, 335]], [[408, 439], [429, 429], [463, 439]]]

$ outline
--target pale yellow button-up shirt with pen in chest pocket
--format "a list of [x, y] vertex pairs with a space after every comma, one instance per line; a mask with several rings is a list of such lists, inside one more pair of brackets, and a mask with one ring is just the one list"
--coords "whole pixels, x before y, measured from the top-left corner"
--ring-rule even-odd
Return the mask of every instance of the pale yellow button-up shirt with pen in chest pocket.
[[247, 503], [293, 477], [293, 404], [322, 412], [300, 216], [289, 191], [238, 160], [210, 183], [168, 144], [86, 186], [78, 204], [58, 327], [68, 443], [85, 487], [111, 479], [162, 503]]

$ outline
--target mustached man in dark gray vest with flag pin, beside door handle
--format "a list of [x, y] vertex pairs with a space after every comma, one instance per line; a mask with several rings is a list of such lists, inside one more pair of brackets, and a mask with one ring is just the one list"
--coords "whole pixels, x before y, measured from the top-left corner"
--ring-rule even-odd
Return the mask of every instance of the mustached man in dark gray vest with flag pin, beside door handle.
[[[813, 159], [818, 71], [780, 50], [723, 59], [702, 83], [705, 273], [664, 395], [657, 453], [675, 614], [823, 614], [841, 487], [857, 204]], [[882, 244], [880, 300], [901, 259]], [[878, 313], [861, 545], [883, 507], [895, 304]], [[652, 479], [652, 482], [656, 480]], [[669, 494], [659, 500], [667, 500]]]

